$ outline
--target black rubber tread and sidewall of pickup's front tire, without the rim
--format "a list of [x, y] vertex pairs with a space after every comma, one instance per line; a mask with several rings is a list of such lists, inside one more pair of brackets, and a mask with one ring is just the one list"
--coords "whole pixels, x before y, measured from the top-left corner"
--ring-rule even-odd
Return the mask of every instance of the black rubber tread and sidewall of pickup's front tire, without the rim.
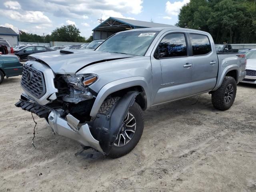
[[[99, 113], [108, 115], [111, 108], [114, 106], [114, 104], [120, 99], [120, 97], [114, 97], [109, 98], [104, 101], [102, 106], [100, 107]], [[134, 104], [130, 107], [129, 112], [135, 117], [136, 119], [136, 131], [134, 133], [134, 136], [132, 139], [125, 144], [124, 146], [112, 146], [112, 149], [108, 156], [110, 158], [119, 158], [126, 154], [128, 154], [130, 151], [132, 151], [135, 146], [140, 141], [140, 138], [143, 133], [144, 129], [144, 116], [143, 111], [138, 103], [134, 102]]]

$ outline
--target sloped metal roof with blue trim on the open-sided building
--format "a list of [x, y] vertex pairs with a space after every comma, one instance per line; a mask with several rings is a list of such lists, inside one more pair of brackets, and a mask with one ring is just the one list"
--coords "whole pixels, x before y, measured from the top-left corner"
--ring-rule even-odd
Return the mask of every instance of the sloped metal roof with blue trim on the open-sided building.
[[[124, 19], [124, 18], [117, 18], [117, 17], [110, 17], [106, 19], [104, 22], [96, 26], [96, 28], [93, 29], [96, 30], [97, 28], [106, 28], [108, 25], [111, 27], [112, 24], [110, 24], [110, 21], [117, 21], [121, 22], [125, 25], [132, 26], [133, 28], [148, 28], [148, 27], [176, 27], [174, 25], [168, 25], [168, 24], [161, 24], [161, 23], [154, 23], [154, 22], [146, 22], [146, 21], [139, 21], [139, 20], [132, 20], [132, 19]], [[107, 25], [107, 26], [106, 26]], [[115, 25], [114, 25], [115, 26]]]

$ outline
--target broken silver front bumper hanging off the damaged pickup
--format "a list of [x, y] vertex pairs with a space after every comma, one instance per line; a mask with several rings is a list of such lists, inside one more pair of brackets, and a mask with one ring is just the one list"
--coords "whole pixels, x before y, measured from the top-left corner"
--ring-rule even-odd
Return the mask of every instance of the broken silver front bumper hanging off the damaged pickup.
[[76, 140], [84, 146], [92, 147], [103, 152], [99, 141], [92, 136], [89, 125], [79, 124], [79, 120], [71, 114], [68, 114], [66, 119], [64, 119], [60, 115], [62, 110], [55, 110], [42, 106], [31, 100], [29, 97], [25, 97], [24, 94], [22, 94], [20, 101], [17, 102], [15, 106], [32, 112], [40, 118], [45, 118], [54, 133]]

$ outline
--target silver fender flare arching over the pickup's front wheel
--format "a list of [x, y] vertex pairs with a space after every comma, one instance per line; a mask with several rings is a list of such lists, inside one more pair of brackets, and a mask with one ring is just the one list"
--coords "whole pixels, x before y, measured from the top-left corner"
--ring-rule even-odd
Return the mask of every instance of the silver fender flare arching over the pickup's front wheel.
[[146, 94], [146, 103], [147, 103], [147, 108], [150, 107], [150, 92], [148, 90], [148, 84], [146, 82], [146, 79], [142, 76], [135, 76], [135, 77], [128, 77], [128, 78], [123, 78], [119, 79], [116, 81], [112, 81], [106, 85], [104, 85], [101, 89], [100, 92], [98, 93], [96, 100], [92, 106], [92, 110], [90, 112], [91, 117], [95, 117], [96, 114], [98, 113], [100, 106], [104, 102], [104, 100], [109, 96], [110, 94], [125, 89], [133, 86], [142, 86], [144, 89], [144, 92]]

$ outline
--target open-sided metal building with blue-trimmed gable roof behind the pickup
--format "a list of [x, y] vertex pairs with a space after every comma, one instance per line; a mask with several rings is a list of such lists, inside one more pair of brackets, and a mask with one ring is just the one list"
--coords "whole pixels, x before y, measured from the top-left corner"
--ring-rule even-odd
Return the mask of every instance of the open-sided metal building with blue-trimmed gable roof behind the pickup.
[[132, 19], [123, 19], [117, 17], [110, 17], [101, 24], [99, 24], [93, 31], [93, 39], [106, 39], [116, 32], [138, 29], [138, 28], [148, 28], [148, 27], [176, 27], [174, 25], [138, 21]]

